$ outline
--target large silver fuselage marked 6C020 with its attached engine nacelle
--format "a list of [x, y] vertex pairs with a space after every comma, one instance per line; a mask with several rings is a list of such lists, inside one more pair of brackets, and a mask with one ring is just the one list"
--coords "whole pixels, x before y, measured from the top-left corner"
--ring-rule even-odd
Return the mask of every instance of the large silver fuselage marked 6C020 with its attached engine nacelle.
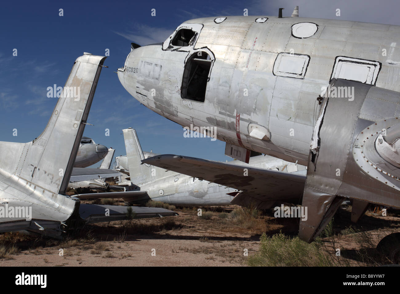
[[[188, 20], [164, 43], [132, 43], [118, 69], [124, 88], [169, 120], [215, 128], [227, 149], [308, 166], [307, 242], [344, 199], [353, 221], [370, 202], [400, 207], [399, 75], [399, 26], [276, 16]], [[145, 162], [184, 169], [179, 156]]]

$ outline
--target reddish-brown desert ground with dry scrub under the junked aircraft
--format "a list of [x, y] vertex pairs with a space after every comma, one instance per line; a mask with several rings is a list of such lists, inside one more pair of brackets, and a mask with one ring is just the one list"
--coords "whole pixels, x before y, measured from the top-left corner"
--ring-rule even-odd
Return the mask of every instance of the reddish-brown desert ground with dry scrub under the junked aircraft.
[[[298, 218], [275, 218], [272, 210], [204, 207], [198, 216], [197, 209], [175, 208], [178, 216], [92, 224], [64, 240], [3, 233], [0, 266], [248, 266], [248, 258], [260, 250], [263, 232], [274, 236], [282, 231], [288, 238], [298, 234]], [[400, 216], [369, 211], [353, 224], [350, 209], [340, 208], [332, 223], [334, 234], [322, 236], [325, 253], [339, 260], [335, 265], [376, 265], [365, 254], [373, 255], [368, 250], [388, 232], [400, 231]], [[352, 228], [369, 240], [363, 245]], [[358, 254], [362, 247], [364, 255]], [[340, 248], [340, 257], [335, 248]]]

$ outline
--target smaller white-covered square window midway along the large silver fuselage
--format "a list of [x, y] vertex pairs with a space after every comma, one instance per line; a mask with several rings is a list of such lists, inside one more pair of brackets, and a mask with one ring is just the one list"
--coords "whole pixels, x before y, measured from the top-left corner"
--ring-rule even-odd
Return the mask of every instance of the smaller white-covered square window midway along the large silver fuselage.
[[273, 73], [275, 76], [303, 79], [309, 62], [308, 55], [282, 52], [276, 57]]

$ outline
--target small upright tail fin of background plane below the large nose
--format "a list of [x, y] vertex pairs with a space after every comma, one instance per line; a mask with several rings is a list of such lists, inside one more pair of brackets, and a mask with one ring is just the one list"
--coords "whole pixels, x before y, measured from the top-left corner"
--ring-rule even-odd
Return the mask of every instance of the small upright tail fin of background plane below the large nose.
[[122, 132], [124, 133], [126, 156], [128, 158], [127, 167], [132, 184], [140, 186], [140, 184], [167, 175], [166, 170], [163, 168], [142, 164], [141, 160], [144, 159], [144, 154], [136, 130], [128, 128], [122, 130]]

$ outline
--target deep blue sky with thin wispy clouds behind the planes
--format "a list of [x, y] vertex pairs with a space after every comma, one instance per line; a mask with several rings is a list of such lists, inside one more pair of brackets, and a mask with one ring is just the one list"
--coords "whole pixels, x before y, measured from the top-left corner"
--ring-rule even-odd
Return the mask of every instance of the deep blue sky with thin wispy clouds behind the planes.
[[[184, 138], [178, 124], [139, 104], [114, 73], [124, 65], [130, 43], [163, 42], [182, 22], [205, 16], [284, 16], [299, 5], [300, 16], [337, 18], [400, 25], [400, 4], [393, 1], [79, 1], [3, 2], [0, 8], [0, 140], [28, 142], [46, 126], [57, 98], [47, 87], [64, 86], [74, 60], [83, 52], [110, 56], [96, 89], [84, 136], [124, 155], [122, 129], [137, 130], [142, 149], [211, 160], [224, 156], [224, 142]], [[59, 9], [64, 16], [59, 16]], [[151, 9], [156, 16], [151, 16]], [[18, 56], [12, 56], [13, 49]], [[13, 129], [18, 136], [12, 136]], [[110, 136], [105, 136], [105, 129]], [[98, 165], [98, 164], [97, 164]]]

